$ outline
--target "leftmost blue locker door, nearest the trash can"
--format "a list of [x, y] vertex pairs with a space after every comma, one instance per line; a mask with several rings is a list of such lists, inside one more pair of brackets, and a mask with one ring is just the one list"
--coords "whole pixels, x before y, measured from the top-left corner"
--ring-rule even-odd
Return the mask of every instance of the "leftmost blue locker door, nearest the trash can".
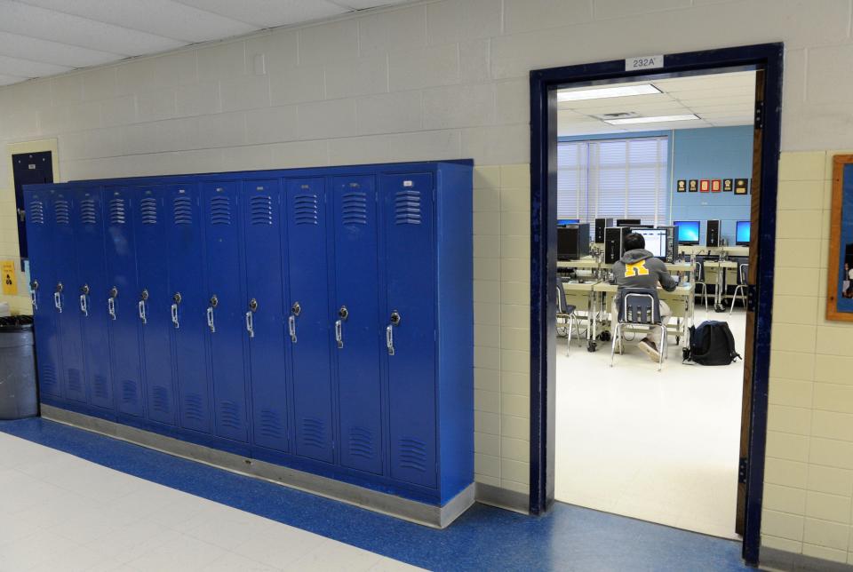
[[58, 314], [53, 307], [56, 269], [52, 265], [55, 242], [52, 201], [46, 191], [28, 192], [26, 195], [29, 287], [35, 320], [38, 386], [42, 394], [57, 398], [61, 395], [57, 377], [60, 369], [60, 342], [57, 332]]

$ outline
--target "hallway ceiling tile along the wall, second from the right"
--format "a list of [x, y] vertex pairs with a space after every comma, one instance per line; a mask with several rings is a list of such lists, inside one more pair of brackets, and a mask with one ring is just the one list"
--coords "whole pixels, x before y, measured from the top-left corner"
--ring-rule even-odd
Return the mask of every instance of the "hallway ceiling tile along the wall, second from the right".
[[176, 0], [180, 4], [247, 22], [259, 28], [275, 28], [319, 20], [349, 12], [325, 0]]

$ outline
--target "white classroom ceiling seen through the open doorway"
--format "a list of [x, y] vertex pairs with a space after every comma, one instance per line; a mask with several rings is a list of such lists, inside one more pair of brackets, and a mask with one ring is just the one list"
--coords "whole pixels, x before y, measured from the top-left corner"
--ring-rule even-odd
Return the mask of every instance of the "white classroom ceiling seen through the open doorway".
[[[651, 83], [661, 93], [608, 99], [584, 99], [558, 103], [560, 135], [590, 135], [636, 131], [665, 131], [750, 125], [755, 109], [755, 72], [738, 71], [725, 74], [643, 80], [618, 83], [634, 85]], [[614, 86], [616, 84], [610, 84]], [[605, 87], [605, 86], [596, 86]], [[580, 87], [560, 91], [580, 91]], [[696, 114], [698, 120], [670, 123], [636, 123], [610, 125], [593, 115], [634, 112], [641, 116]]]

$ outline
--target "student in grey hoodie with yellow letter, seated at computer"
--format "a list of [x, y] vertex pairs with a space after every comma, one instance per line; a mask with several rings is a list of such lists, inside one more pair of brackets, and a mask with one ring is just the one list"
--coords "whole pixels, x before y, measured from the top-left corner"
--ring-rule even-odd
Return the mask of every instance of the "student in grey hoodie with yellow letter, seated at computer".
[[[618, 291], [613, 298], [613, 306], [610, 309], [610, 322], [615, 323], [619, 316], [619, 305], [622, 304], [622, 290], [628, 288], [654, 289], [658, 283], [667, 292], [675, 290], [677, 282], [666, 271], [663, 260], [655, 258], [646, 250], [646, 241], [642, 234], [631, 233], [625, 237], [625, 254], [613, 265], [613, 277], [618, 285]], [[637, 345], [643, 352], [649, 355], [651, 361], [660, 360], [659, 348], [662, 346], [663, 337], [666, 335], [666, 323], [672, 312], [666, 302], [660, 303], [661, 326], [655, 326], [649, 334], [642, 338]]]

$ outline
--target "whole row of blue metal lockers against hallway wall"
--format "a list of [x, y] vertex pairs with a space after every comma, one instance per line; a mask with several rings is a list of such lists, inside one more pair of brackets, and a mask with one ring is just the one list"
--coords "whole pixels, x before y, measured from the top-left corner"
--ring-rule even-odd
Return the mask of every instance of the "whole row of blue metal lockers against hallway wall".
[[444, 504], [473, 481], [471, 178], [26, 187], [41, 401]]

